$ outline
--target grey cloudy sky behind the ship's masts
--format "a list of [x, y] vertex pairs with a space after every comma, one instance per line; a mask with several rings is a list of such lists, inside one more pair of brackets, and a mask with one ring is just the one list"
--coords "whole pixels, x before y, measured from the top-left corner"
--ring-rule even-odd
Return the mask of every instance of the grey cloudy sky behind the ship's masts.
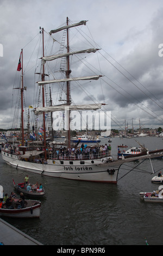
[[[124, 127], [124, 120], [129, 126], [133, 120], [138, 127], [139, 119], [143, 127], [163, 127], [162, 0], [0, 0], [0, 17], [0, 128], [11, 127], [21, 48], [29, 57], [27, 45], [39, 34], [39, 27], [49, 32], [63, 25], [66, 17], [87, 20], [93, 40], [102, 48], [99, 61], [104, 77], [90, 94], [108, 104], [111, 127]], [[30, 77], [26, 76], [27, 106], [33, 105], [35, 71], [32, 57], [28, 61], [32, 65]], [[88, 100], [82, 94], [78, 99], [76, 94], [76, 103]]]

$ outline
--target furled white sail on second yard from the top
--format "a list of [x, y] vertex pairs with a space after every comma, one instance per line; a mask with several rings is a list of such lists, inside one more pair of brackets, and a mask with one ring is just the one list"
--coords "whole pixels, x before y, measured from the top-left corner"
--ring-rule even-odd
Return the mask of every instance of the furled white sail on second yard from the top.
[[58, 59], [58, 58], [62, 58], [62, 57], [67, 57], [73, 54], [79, 54], [79, 53], [91, 53], [91, 52], [96, 52], [99, 49], [95, 49], [95, 48], [90, 48], [87, 50], [82, 50], [82, 51], [77, 51], [77, 52], [66, 52], [66, 53], [61, 53], [61, 54], [56, 54], [56, 55], [52, 55], [52, 56], [46, 56], [46, 57], [42, 57], [42, 63], [45, 64], [47, 61], [51, 61], [54, 59]]

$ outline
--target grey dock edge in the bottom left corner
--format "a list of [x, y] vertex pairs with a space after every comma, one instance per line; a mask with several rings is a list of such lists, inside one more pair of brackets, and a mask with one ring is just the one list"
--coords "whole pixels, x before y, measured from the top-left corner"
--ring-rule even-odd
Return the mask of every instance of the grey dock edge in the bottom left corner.
[[0, 243], [4, 245], [42, 245], [0, 218]]

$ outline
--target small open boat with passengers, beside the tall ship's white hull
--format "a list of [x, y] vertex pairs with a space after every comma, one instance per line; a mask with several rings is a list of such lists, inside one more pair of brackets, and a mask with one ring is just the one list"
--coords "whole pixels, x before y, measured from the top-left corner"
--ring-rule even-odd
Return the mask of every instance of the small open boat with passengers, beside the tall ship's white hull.
[[[15, 190], [18, 191], [19, 193], [22, 192], [23, 194], [26, 194], [28, 197], [35, 197], [35, 198], [42, 197], [45, 195], [44, 188], [42, 188], [42, 190], [39, 190], [39, 187], [33, 184], [24, 184], [23, 182], [16, 185], [14, 179], [12, 180], [13, 180]], [[28, 185], [31, 187], [30, 191], [27, 190]]]

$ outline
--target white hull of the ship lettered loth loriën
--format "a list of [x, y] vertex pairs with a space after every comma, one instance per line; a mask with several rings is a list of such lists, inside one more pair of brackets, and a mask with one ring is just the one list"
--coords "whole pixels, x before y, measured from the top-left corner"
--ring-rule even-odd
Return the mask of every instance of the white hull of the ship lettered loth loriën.
[[117, 183], [121, 163], [108, 161], [109, 157], [89, 160], [47, 160], [47, 164], [19, 160], [18, 155], [2, 151], [3, 160], [16, 169], [72, 180]]

